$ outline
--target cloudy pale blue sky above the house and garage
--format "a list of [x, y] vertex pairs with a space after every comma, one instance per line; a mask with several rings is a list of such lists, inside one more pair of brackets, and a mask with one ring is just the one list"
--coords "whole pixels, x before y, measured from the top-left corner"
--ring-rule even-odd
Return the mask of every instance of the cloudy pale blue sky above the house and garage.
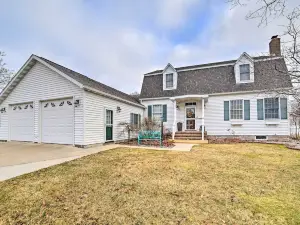
[[[298, 0], [290, 0], [287, 7]], [[173, 66], [268, 52], [284, 19], [258, 27], [226, 0], [0, 0], [0, 50], [18, 71], [36, 54], [121, 91]]]

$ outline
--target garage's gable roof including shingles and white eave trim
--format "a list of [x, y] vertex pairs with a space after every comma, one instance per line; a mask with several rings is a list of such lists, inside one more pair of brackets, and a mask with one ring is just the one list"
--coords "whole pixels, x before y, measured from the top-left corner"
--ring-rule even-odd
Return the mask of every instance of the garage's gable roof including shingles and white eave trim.
[[[50, 61], [46, 58], [43, 58], [43, 57], [40, 57], [37, 55], [32, 55], [29, 58], [29, 60], [27, 60], [27, 62], [19, 70], [19, 72], [15, 75], [15, 77], [12, 79], [12, 81], [7, 85], [7, 87], [5, 89], [3, 89], [0, 96], [3, 97], [4, 92], [6, 90], [8, 90], [8, 87], [10, 86], [11, 83], [13, 83], [14, 79], [16, 79], [17, 76], [20, 74], [23, 74], [23, 76], [24, 76], [25, 73], [27, 73], [33, 67], [33, 65], [36, 63], [36, 61], [39, 61], [39, 62], [45, 64], [46, 66], [50, 66], [50, 69], [54, 69], [56, 72], [63, 75], [65, 78], [71, 80], [73, 83], [75, 83], [76, 85], [78, 85], [81, 88], [96, 90], [96, 91], [103, 93], [104, 95], [107, 94], [108, 96], [116, 97], [123, 101], [125, 100], [125, 101], [131, 102], [133, 104], [138, 104], [141, 107], [144, 107], [142, 104], [140, 104], [140, 102], [136, 98], [134, 98], [131, 95], [121, 92], [115, 88], [109, 87], [109, 86], [107, 86], [103, 83], [100, 83], [98, 81], [95, 81], [83, 74], [80, 74], [76, 71], [73, 71], [69, 68], [66, 68], [62, 65], [59, 65], [53, 61]], [[1, 98], [0, 101], [3, 101], [3, 99]]]

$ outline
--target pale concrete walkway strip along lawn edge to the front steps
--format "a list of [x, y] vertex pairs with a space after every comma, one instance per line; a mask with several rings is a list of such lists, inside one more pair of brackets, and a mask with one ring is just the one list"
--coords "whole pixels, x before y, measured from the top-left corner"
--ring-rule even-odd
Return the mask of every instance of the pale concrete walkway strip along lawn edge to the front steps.
[[80, 154], [76, 152], [75, 156], [58, 158], [58, 159], [49, 159], [38, 162], [30, 162], [30, 163], [20, 163], [17, 165], [9, 165], [9, 166], [0, 166], [0, 181], [8, 180], [13, 177], [17, 177], [26, 173], [31, 173], [43, 168], [47, 168], [50, 166], [58, 165], [64, 162], [68, 162], [74, 159], [78, 159], [87, 155], [95, 154], [98, 152], [110, 150], [113, 148], [139, 148], [139, 149], [150, 149], [150, 150], [162, 150], [162, 151], [184, 151], [188, 152], [192, 149], [193, 144], [182, 144], [175, 143], [173, 148], [157, 148], [157, 147], [148, 147], [148, 146], [129, 146], [129, 145], [119, 145], [119, 144], [109, 144], [103, 146], [95, 146], [87, 149], [80, 149]]

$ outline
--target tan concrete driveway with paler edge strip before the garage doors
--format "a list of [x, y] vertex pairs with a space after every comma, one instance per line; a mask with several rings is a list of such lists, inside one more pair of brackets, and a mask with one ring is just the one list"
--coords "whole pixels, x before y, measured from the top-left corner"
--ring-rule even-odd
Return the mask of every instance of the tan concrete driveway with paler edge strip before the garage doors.
[[82, 149], [68, 145], [2, 142], [0, 181], [116, 147], [118, 145], [111, 144]]

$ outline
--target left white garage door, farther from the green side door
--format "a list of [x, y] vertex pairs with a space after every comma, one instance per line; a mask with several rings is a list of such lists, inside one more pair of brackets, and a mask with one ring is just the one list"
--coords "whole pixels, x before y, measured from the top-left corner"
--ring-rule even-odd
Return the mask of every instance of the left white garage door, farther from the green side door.
[[33, 103], [11, 106], [10, 140], [34, 141]]

